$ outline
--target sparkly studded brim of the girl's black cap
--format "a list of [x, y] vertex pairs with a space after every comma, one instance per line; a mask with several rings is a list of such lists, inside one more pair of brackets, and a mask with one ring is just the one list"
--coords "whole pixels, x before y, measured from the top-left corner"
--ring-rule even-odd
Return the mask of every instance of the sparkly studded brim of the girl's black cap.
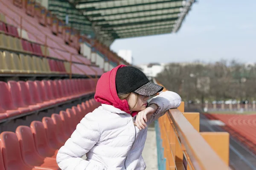
[[140, 94], [142, 96], [153, 96], [158, 92], [162, 91], [163, 87], [152, 82], [148, 82], [147, 84], [141, 86], [137, 90], [134, 91], [136, 94]]

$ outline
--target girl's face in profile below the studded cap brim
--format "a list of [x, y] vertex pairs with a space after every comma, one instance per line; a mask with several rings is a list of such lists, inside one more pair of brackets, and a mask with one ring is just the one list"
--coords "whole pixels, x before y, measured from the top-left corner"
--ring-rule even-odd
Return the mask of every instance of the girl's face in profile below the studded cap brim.
[[[136, 96], [137, 96], [137, 103], [136, 103]], [[127, 97], [127, 102], [131, 112], [133, 111], [143, 111], [147, 107], [147, 100], [149, 96], [141, 96], [134, 93], [131, 93]]]

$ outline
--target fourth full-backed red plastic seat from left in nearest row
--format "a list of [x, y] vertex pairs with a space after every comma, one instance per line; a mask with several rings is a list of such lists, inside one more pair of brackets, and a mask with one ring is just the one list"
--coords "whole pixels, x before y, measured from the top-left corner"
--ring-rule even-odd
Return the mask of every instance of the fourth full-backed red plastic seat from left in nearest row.
[[44, 129], [46, 131], [47, 135], [47, 141], [49, 143], [49, 146], [54, 149], [59, 149], [62, 147], [65, 143], [58, 140], [57, 134], [56, 134], [56, 125], [53, 123], [52, 118], [50, 117], [44, 117], [42, 119]]

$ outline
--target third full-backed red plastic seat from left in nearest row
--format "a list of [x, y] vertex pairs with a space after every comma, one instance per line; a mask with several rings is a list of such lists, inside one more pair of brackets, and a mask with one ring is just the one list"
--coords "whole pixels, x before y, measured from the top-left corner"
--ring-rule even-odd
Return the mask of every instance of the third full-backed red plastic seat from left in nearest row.
[[33, 121], [30, 124], [34, 136], [35, 148], [40, 156], [56, 158], [58, 150], [54, 150], [47, 142], [47, 136], [42, 122]]

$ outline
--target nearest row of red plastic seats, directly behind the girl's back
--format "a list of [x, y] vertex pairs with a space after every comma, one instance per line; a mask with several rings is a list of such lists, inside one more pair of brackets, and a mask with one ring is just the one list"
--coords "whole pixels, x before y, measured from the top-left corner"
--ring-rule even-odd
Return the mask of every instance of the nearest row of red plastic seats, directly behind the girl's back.
[[53, 113], [42, 122], [18, 126], [16, 132], [0, 134], [0, 170], [59, 170], [58, 149], [70, 138], [76, 125], [89, 112], [99, 107], [94, 99], [81, 105]]

